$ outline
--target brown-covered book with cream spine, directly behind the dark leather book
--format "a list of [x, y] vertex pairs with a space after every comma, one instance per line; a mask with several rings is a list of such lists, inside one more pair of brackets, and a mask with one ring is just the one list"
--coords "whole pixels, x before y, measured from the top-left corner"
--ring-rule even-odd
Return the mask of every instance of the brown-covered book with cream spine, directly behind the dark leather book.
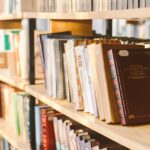
[[105, 117], [107, 123], [118, 123], [120, 122], [120, 115], [117, 107], [117, 100], [115, 90], [112, 82], [111, 71], [107, 58], [107, 51], [110, 49], [142, 49], [144, 46], [139, 45], [121, 45], [121, 44], [99, 44], [100, 54], [100, 71], [102, 78], [102, 89], [105, 100]]

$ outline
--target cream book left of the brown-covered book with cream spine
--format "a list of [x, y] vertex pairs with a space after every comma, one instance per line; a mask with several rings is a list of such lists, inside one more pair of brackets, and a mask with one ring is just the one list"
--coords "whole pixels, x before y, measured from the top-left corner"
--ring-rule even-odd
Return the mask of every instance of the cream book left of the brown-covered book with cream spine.
[[104, 110], [104, 100], [103, 93], [101, 89], [101, 80], [100, 80], [100, 72], [97, 68], [99, 68], [99, 64], [97, 61], [97, 46], [96, 44], [90, 44], [87, 46], [88, 57], [89, 57], [89, 67], [91, 69], [91, 79], [94, 85], [96, 102], [99, 112], [99, 117], [101, 120], [105, 120], [105, 110]]

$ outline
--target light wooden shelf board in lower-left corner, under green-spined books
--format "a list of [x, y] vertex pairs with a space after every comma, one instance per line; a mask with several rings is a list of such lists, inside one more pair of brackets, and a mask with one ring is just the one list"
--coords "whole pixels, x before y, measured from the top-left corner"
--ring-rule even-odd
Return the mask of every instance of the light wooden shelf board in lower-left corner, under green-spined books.
[[30, 150], [29, 143], [17, 136], [3, 119], [0, 119], [0, 135], [18, 150]]

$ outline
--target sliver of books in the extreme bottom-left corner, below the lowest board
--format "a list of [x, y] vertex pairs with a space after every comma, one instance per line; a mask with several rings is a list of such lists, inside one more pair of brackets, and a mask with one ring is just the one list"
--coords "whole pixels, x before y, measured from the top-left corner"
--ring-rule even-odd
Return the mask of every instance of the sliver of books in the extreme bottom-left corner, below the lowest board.
[[9, 142], [0, 137], [0, 150], [16, 150]]

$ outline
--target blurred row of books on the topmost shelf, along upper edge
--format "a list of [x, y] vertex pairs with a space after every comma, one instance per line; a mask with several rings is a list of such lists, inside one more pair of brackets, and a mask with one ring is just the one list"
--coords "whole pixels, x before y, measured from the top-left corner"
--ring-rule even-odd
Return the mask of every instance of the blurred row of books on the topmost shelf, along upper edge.
[[0, 0], [0, 12], [89, 12], [149, 7], [149, 0]]

